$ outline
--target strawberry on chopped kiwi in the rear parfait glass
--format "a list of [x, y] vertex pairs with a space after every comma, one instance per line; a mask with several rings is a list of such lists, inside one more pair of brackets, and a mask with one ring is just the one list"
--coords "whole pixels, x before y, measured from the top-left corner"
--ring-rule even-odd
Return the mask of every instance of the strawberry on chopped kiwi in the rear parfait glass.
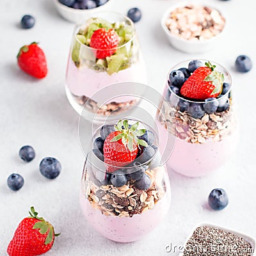
[[115, 30], [109, 29], [106, 31], [105, 28], [100, 28], [93, 32], [90, 47], [99, 49], [98, 51], [95, 51], [96, 58], [104, 59], [116, 52], [115, 48], [118, 46], [118, 43], [119, 37]]

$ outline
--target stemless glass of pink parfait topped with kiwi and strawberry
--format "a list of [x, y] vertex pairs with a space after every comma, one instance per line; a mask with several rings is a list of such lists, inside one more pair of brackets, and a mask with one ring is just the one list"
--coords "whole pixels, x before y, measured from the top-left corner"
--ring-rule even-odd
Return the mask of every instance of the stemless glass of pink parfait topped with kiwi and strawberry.
[[138, 99], [129, 95], [99, 104], [100, 99], [93, 95], [120, 82], [147, 84], [134, 23], [119, 13], [93, 12], [74, 28], [66, 74], [68, 100], [77, 113], [87, 111], [83, 117], [88, 120], [96, 112], [99, 119], [100, 115], [118, 114], [136, 105]]

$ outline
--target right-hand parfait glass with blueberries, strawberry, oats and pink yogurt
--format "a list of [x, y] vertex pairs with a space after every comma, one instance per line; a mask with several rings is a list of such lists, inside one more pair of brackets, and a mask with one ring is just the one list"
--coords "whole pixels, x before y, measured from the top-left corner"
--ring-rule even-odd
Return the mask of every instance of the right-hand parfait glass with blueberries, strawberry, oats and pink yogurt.
[[163, 92], [169, 106], [162, 101], [156, 115], [159, 131], [176, 140], [168, 168], [200, 177], [230, 159], [237, 143], [231, 89], [228, 71], [212, 61], [183, 61], [170, 70]]

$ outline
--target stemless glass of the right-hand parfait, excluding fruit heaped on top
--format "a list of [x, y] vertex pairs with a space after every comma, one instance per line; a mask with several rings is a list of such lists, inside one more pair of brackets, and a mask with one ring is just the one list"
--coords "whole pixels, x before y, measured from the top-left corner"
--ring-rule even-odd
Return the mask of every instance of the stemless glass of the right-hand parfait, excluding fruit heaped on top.
[[[190, 61], [183, 61], [172, 70], [188, 67]], [[167, 122], [163, 122], [164, 118], [159, 115], [159, 111], [156, 115], [159, 131], [167, 129], [170, 136], [176, 140], [167, 162], [168, 168], [189, 177], [200, 177], [220, 167], [230, 159], [237, 143], [231, 77], [224, 67], [213, 61], [211, 63], [216, 65], [216, 70], [224, 74], [226, 83], [225, 90], [217, 98], [216, 111], [207, 113], [204, 109], [204, 100], [185, 99], [180, 93], [173, 92], [169, 81], [172, 72], [170, 70], [163, 92], [163, 97], [169, 102], [170, 107], [166, 107], [164, 102], [159, 105]], [[170, 113], [174, 113], [174, 116]]]

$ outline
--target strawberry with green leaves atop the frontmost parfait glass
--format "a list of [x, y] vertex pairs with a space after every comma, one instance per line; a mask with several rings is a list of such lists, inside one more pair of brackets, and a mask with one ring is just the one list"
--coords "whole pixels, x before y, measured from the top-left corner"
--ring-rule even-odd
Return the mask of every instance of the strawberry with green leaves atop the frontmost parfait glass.
[[139, 122], [129, 127], [128, 121], [120, 120], [115, 126], [116, 131], [111, 132], [104, 141], [103, 152], [104, 162], [109, 164], [108, 172], [113, 172], [118, 167], [134, 161], [138, 154], [138, 145], [147, 147], [144, 140], [139, 140], [138, 136], [145, 133], [145, 129], [137, 130]]

